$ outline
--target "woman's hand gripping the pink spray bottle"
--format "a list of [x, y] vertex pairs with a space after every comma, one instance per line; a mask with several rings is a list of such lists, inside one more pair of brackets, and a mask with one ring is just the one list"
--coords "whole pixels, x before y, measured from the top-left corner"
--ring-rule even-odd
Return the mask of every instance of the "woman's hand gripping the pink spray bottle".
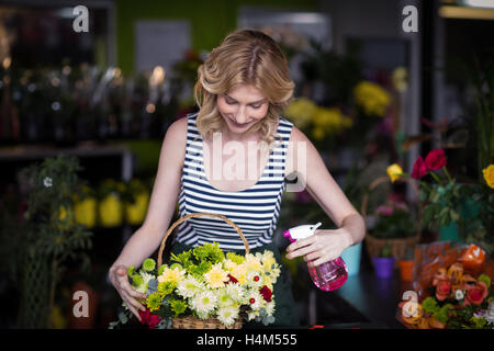
[[317, 229], [308, 238], [296, 240], [287, 248], [287, 258], [304, 257], [308, 267], [316, 267], [337, 259], [351, 246], [351, 234], [346, 228]]

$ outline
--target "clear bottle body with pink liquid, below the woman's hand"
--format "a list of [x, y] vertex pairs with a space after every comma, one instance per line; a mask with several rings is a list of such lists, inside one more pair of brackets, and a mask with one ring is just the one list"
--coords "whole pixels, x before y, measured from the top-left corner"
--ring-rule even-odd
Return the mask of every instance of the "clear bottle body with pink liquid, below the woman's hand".
[[308, 274], [318, 288], [330, 292], [345, 284], [348, 279], [348, 269], [345, 261], [338, 257], [317, 267], [310, 267]]

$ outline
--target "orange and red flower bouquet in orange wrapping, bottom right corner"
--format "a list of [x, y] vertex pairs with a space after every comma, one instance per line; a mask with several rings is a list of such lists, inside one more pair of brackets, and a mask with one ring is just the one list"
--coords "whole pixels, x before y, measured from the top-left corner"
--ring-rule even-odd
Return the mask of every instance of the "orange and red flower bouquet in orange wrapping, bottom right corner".
[[[434, 246], [444, 252], [430, 251]], [[445, 246], [427, 248], [425, 256], [433, 254], [422, 258], [415, 291], [404, 294], [397, 318], [414, 329], [493, 329], [492, 261], [485, 265], [485, 252], [475, 245]]]

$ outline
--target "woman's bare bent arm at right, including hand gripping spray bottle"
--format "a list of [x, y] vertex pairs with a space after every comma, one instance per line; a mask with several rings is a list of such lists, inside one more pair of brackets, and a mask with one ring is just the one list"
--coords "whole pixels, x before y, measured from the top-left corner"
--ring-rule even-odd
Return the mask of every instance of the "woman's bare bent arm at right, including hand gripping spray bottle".
[[[300, 182], [305, 185], [307, 192], [338, 229], [316, 230], [316, 235], [293, 242], [287, 249], [289, 252], [287, 257], [292, 259], [305, 256], [305, 260], [312, 261], [310, 264], [318, 265], [336, 259], [347, 247], [362, 241], [366, 225], [362, 216], [355, 210], [327, 170], [311, 140], [296, 127], [292, 128], [290, 140], [289, 171], [297, 173]], [[303, 143], [304, 147], [297, 147], [297, 143]]]

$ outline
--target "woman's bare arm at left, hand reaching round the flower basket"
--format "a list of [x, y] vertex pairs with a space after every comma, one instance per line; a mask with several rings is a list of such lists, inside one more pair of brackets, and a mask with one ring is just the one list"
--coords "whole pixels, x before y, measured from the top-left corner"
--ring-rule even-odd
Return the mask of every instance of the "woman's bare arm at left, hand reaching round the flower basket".
[[180, 118], [170, 125], [165, 136], [146, 218], [109, 270], [110, 281], [138, 319], [137, 309], [145, 307], [137, 298], [145, 298], [145, 295], [132, 288], [127, 268], [139, 267], [161, 242], [177, 207], [186, 145], [187, 118]]

